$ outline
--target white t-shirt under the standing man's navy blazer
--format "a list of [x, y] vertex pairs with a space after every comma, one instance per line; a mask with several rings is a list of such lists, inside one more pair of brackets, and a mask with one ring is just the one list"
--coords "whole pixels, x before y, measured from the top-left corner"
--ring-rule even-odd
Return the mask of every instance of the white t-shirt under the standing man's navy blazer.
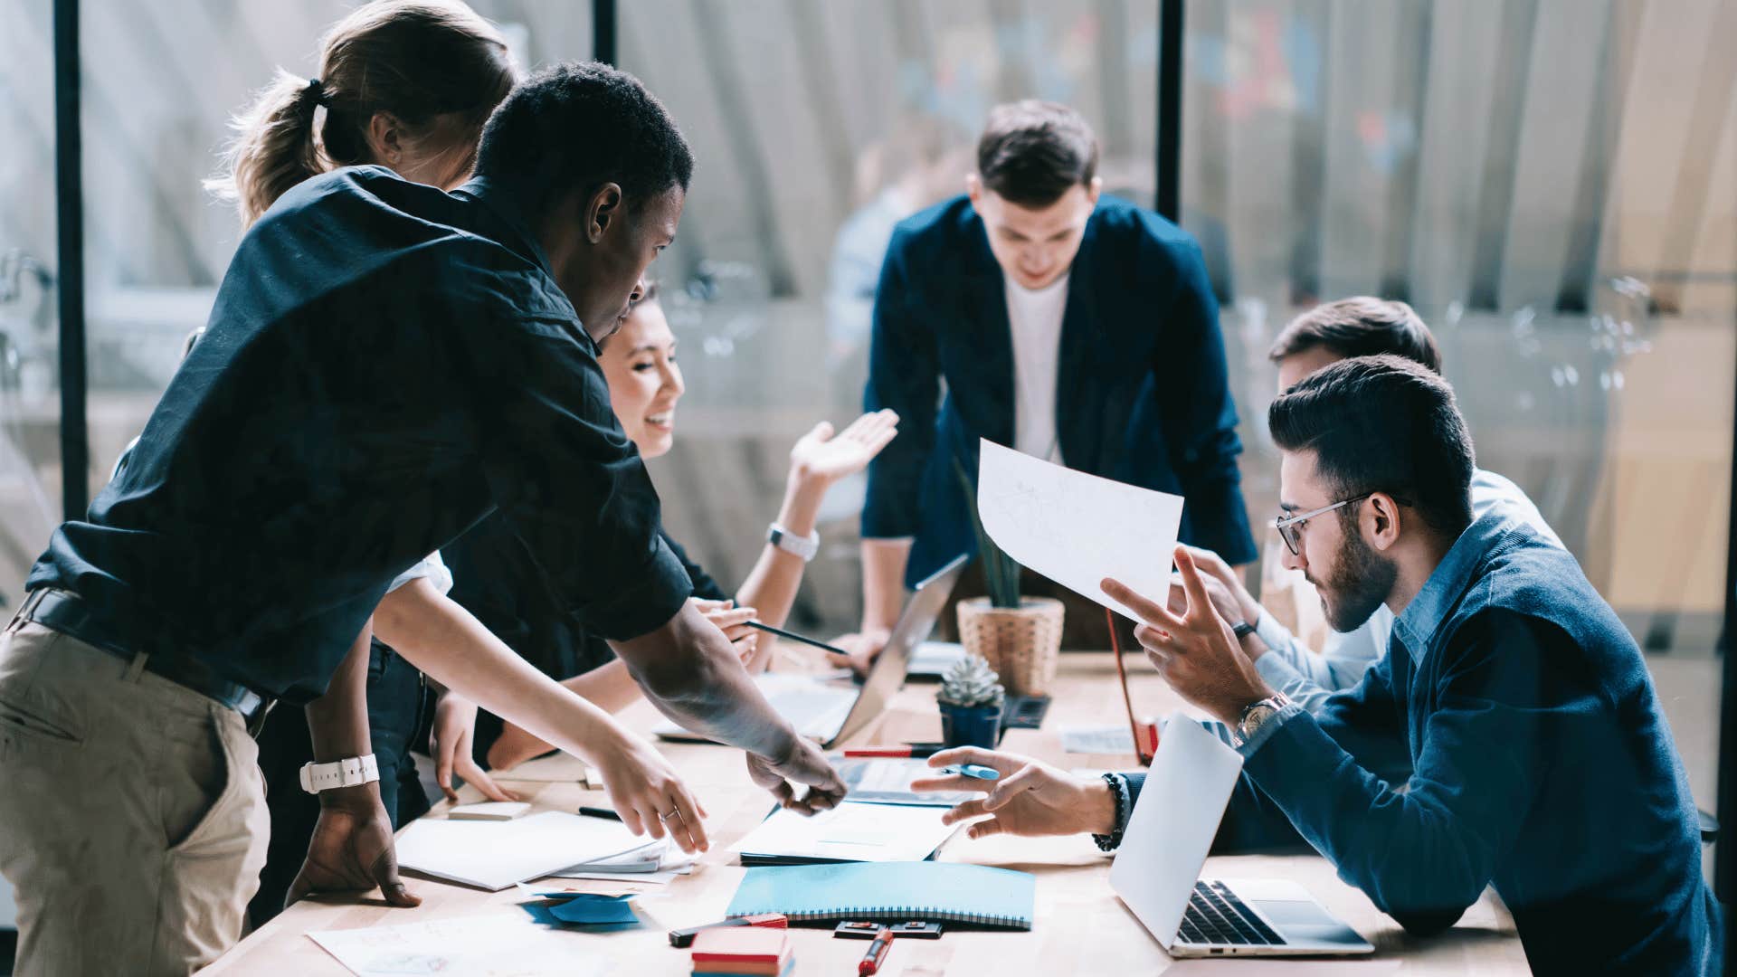
[[1061, 313], [1068, 308], [1068, 276], [1042, 289], [1007, 280], [1007, 325], [1013, 329], [1013, 449], [1061, 464], [1056, 435], [1056, 370], [1061, 363]]

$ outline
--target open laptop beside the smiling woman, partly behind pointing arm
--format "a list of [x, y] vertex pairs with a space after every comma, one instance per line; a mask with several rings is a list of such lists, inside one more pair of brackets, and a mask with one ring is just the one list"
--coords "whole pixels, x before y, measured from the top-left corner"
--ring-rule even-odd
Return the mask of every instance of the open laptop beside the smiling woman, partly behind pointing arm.
[[[879, 716], [905, 685], [910, 654], [935, 631], [935, 622], [947, 607], [947, 598], [952, 596], [964, 567], [966, 556], [959, 556], [917, 584], [862, 687], [776, 673], [757, 675], [754, 683], [771, 708], [790, 720], [797, 734], [820, 741], [823, 749], [832, 749]], [[703, 739], [669, 721], [651, 732], [664, 739]]]

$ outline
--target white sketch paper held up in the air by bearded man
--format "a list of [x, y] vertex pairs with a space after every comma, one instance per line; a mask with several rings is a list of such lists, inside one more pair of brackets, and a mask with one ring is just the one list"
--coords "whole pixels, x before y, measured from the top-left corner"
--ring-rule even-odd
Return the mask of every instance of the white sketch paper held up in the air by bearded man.
[[1164, 601], [1183, 497], [1124, 485], [981, 442], [978, 516], [1007, 556], [1133, 621], [1098, 586], [1115, 577]]

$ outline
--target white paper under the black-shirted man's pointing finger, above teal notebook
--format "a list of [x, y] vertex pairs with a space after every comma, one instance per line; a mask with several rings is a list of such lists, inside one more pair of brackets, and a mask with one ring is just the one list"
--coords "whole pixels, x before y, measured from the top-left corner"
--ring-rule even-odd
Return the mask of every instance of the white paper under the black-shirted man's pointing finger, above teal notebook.
[[855, 801], [813, 817], [778, 810], [730, 850], [849, 862], [921, 862], [959, 831], [957, 824], [941, 824], [941, 810]]

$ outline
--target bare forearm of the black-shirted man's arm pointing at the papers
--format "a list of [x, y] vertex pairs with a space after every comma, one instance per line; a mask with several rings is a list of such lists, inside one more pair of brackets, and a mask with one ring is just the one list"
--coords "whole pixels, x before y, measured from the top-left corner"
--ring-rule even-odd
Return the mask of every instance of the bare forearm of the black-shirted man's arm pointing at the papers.
[[693, 601], [657, 631], [610, 645], [646, 699], [683, 728], [773, 761], [796, 754], [790, 721], [766, 702], [730, 640]]

